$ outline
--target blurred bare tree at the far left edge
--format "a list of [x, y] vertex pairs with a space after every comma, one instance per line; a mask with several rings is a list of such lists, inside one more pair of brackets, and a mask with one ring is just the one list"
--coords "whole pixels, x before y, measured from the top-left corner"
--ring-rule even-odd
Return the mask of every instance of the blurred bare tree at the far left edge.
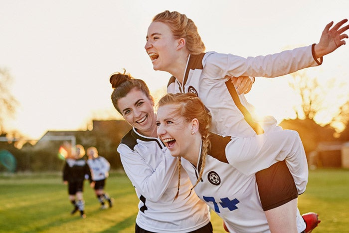
[[8, 70], [0, 68], [0, 134], [6, 130], [4, 128], [6, 119], [14, 116], [18, 105], [9, 89], [11, 81]]

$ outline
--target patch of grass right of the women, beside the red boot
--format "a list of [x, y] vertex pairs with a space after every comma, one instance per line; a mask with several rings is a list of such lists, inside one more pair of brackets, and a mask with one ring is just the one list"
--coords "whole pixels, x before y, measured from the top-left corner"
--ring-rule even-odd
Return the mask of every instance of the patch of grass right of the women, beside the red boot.
[[349, 170], [310, 171], [307, 190], [299, 197], [301, 213], [317, 212], [321, 219], [313, 233], [349, 233]]

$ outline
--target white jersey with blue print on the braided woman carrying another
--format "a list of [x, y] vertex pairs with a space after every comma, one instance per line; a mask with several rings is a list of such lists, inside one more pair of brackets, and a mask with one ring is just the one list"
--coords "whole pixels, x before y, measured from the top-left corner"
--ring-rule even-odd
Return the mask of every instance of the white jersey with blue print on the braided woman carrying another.
[[[212, 137], [220, 136], [212, 135]], [[279, 150], [270, 148], [267, 142], [273, 140], [276, 145], [282, 143], [284, 146], [280, 146]], [[254, 137], [233, 138], [230, 141], [222, 139], [214, 141], [211, 155], [206, 156], [201, 180], [194, 188], [195, 193], [224, 220], [230, 233], [270, 232], [254, 174], [260, 169], [269, 167], [269, 164], [276, 160], [284, 160], [286, 157], [296, 160], [302, 157], [302, 153], [299, 153], [302, 142], [298, 133], [283, 130]], [[252, 148], [251, 144], [254, 145]], [[221, 148], [225, 148], [225, 152], [222, 152]], [[224, 157], [229, 160], [226, 155], [233, 158], [233, 164], [230, 164], [230, 161], [226, 163], [219, 160]], [[192, 184], [195, 184], [202, 160], [198, 157], [196, 166], [184, 158], [181, 161]], [[240, 168], [236, 169], [237, 167]], [[296, 218], [298, 232], [303, 232], [306, 226], [298, 210]]]

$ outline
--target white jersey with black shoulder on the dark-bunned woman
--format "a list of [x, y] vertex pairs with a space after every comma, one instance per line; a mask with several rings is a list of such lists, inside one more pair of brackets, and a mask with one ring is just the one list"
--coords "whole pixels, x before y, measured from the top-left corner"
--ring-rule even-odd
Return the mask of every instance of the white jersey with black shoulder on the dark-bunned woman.
[[[167, 147], [159, 138], [146, 137], [134, 128], [118, 146], [124, 170], [140, 199], [136, 223], [142, 229], [158, 233], [187, 233], [207, 225], [208, 206], [192, 192], [191, 182], [183, 169], [177, 193], [177, 162], [165, 156]], [[186, 198], [187, 197], [187, 198]]]

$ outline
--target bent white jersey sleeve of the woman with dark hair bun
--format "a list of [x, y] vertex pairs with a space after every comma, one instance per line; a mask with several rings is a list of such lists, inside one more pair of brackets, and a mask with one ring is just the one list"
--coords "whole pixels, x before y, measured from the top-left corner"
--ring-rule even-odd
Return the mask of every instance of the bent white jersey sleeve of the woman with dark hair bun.
[[[119, 145], [118, 152], [124, 170], [135, 188], [146, 199], [157, 202], [174, 176], [177, 167], [176, 159], [162, 153], [162, 161], [153, 169], [139, 152], [131, 150], [125, 144]], [[143, 153], [152, 153], [152, 151], [145, 150]]]

